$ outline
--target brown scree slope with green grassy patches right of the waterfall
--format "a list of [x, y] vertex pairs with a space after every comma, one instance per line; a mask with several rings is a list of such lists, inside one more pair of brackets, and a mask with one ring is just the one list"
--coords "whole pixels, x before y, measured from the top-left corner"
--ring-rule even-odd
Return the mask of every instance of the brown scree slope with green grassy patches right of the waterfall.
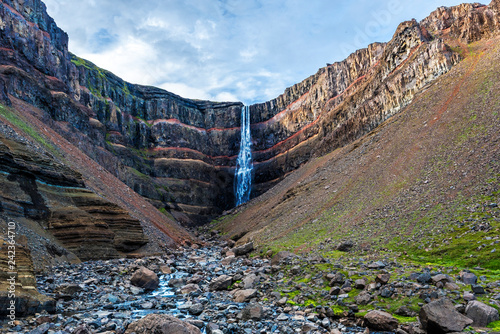
[[468, 49], [400, 114], [215, 228], [261, 249], [328, 253], [351, 239], [361, 252], [500, 269], [499, 39]]

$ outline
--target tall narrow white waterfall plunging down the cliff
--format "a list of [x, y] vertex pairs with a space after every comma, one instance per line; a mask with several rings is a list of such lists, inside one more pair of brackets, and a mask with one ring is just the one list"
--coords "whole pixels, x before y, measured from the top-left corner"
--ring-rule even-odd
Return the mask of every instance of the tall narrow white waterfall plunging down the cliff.
[[236, 206], [250, 200], [252, 191], [252, 136], [250, 135], [250, 108], [241, 109], [241, 141], [240, 153], [236, 162], [235, 195]]

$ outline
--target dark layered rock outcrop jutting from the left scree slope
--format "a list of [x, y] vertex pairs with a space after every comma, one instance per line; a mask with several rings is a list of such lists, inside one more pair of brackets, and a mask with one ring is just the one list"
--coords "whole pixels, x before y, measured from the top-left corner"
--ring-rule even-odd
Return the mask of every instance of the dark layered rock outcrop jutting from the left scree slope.
[[2, 136], [0, 208], [37, 221], [81, 260], [116, 258], [147, 242], [140, 222], [86, 189], [80, 174]]

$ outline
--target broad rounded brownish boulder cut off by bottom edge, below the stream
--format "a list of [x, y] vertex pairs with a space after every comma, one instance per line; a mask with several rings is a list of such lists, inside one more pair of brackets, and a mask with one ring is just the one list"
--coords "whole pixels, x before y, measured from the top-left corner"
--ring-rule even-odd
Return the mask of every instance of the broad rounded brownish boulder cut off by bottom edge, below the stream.
[[201, 331], [187, 322], [166, 314], [149, 314], [128, 325], [125, 334], [201, 334]]

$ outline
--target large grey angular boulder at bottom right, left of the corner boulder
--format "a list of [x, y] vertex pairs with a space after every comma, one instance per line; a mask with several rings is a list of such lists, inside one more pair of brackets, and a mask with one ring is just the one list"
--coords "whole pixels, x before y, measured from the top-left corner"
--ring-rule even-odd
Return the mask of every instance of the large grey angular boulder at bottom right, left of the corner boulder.
[[461, 332], [472, 320], [457, 312], [453, 303], [442, 298], [424, 305], [419, 313], [422, 328], [428, 333]]

